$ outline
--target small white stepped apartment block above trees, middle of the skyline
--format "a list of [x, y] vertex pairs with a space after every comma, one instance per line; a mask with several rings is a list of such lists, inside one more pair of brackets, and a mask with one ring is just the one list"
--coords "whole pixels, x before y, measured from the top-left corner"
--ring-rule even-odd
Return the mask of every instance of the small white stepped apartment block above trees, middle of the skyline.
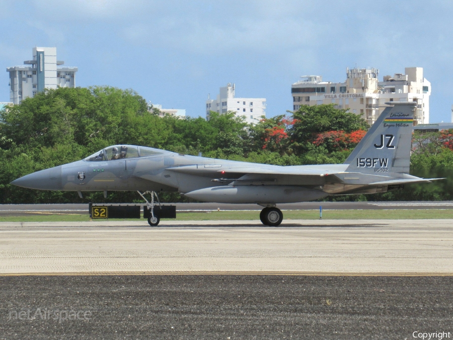
[[217, 113], [235, 112], [237, 116], [245, 116], [249, 124], [256, 124], [261, 116], [266, 116], [266, 98], [235, 98], [235, 84], [228, 83], [220, 88], [215, 100], [206, 100], [206, 119], [209, 120], [210, 111]]

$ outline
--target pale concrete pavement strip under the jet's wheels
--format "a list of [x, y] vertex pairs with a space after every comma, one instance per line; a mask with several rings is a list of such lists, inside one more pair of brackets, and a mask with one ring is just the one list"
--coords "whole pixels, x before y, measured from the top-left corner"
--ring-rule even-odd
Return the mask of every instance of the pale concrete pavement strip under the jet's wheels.
[[0, 273], [451, 275], [453, 220], [3, 222]]

